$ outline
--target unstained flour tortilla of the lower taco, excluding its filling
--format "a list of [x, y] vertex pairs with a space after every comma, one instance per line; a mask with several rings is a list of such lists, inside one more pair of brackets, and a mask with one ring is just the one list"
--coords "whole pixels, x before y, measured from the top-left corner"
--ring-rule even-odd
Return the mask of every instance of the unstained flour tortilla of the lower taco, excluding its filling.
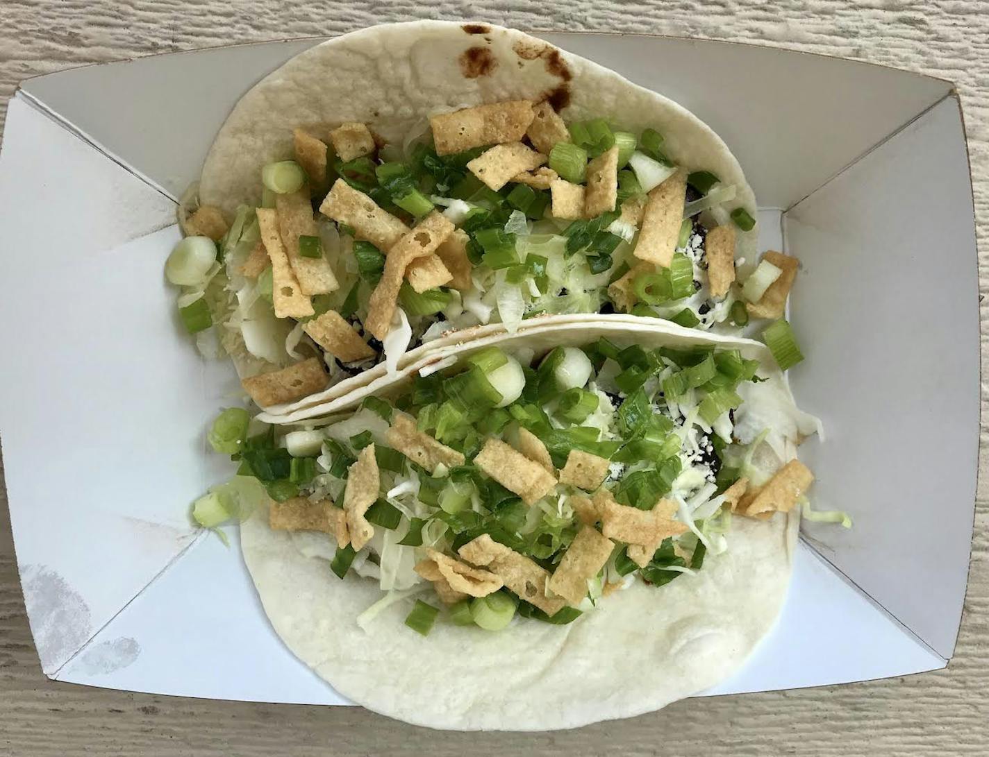
[[[621, 347], [739, 349], [763, 363], [759, 373], [767, 379], [753, 384], [749, 401], [762, 394], [792, 404], [764, 345], [641, 319], [543, 324], [512, 336], [447, 344], [377, 393], [398, 393], [418, 371], [488, 345], [529, 348], [538, 355], [599, 337]], [[310, 414], [308, 424], [339, 420], [367, 393], [298, 414]], [[639, 715], [731, 675], [775, 623], [789, 582], [797, 523], [796, 513], [759, 522], [735, 518], [728, 551], [708, 554], [696, 575], [661, 588], [639, 583], [616, 592], [569, 626], [518, 622], [491, 633], [440, 621], [426, 638], [403, 625], [412, 599], [390, 607], [368, 631], [357, 625], [357, 617], [382, 594], [377, 581], [355, 576], [340, 581], [329, 571], [329, 537], [316, 535], [324, 548], [304, 553], [290, 535], [268, 528], [262, 510], [243, 524], [241, 547], [275, 630], [342, 695], [384, 715], [436, 728], [537, 730]], [[314, 553], [322, 556], [306, 556]]]

